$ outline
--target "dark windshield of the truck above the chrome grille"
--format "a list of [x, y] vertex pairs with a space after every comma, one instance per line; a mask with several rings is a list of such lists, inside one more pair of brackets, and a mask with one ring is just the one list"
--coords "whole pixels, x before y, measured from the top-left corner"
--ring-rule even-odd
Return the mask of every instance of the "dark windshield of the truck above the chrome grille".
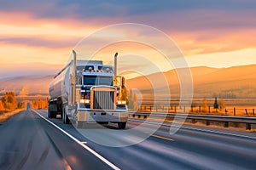
[[84, 85], [113, 86], [113, 77], [84, 76]]

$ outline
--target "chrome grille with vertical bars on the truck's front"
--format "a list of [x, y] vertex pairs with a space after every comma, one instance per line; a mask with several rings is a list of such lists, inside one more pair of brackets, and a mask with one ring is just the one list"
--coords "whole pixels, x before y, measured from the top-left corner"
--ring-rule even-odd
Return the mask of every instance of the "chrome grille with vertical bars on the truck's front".
[[94, 91], [93, 109], [113, 110], [113, 91]]

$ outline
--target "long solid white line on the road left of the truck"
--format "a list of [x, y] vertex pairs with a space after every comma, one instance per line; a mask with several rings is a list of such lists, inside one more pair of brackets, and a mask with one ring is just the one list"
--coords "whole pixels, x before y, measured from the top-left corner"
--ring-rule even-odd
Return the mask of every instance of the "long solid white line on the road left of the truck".
[[104, 158], [103, 156], [101, 156], [100, 154], [98, 154], [95, 150], [90, 149], [90, 147], [88, 147], [87, 145], [83, 144], [83, 142], [80, 142], [79, 139], [76, 139], [75, 137], [73, 137], [71, 134], [67, 133], [66, 131], [64, 131], [61, 127], [58, 127], [57, 125], [55, 125], [55, 123], [50, 122], [48, 119], [46, 119], [44, 116], [40, 115], [40, 113], [38, 113], [38, 111], [34, 111], [36, 114], [38, 114], [38, 116], [42, 117], [45, 121], [49, 122], [51, 125], [53, 125], [54, 127], [56, 127], [57, 129], [59, 129], [62, 133], [65, 133], [69, 138], [73, 139], [76, 143], [80, 144], [80, 146], [82, 146], [85, 150], [90, 151], [90, 153], [92, 153], [94, 156], [96, 156], [97, 158], [99, 158], [100, 160], [102, 160], [103, 162], [105, 162], [106, 164], [108, 164], [109, 167], [112, 167], [113, 169], [119, 170], [119, 167], [116, 167], [115, 165], [113, 165], [113, 163], [111, 163], [110, 161], [108, 161], [106, 158]]

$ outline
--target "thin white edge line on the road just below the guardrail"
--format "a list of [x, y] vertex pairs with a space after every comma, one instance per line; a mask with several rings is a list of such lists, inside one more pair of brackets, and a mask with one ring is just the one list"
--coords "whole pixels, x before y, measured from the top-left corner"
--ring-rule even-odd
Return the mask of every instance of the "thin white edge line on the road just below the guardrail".
[[[140, 120], [131, 120], [129, 119], [129, 121], [131, 122], [143, 122]], [[157, 125], [163, 125], [166, 127], [171, 127], [171, 125], [168, 125], [166, 123], [162, 124], [162, 123], [158, 123], [158, 122], [147, 122], [148, 124], [157, 124]], [[174, 126], [175, 127], [175, 126]], [[201, 132], [205, 132], [205, 133], [217, 133], [217, 134], [224, 134], [224, 135], [230, 135], [230, 136], [235, 136], [235, 137], [240, 137], [240, 138], [247, 138], [247, 139], [256, 139], [256, 137], [253, 136], [247, 136], [247, 135], [242, 135], [242, 134], [234, 134], [234, 133], [224, 133], [224, 132], [218, 132], [218, 131], [213, 131], [213, 130], [207, 130], [207, 129], [200, 129], [200, 128], [195, 128], [195, 127], [181, 127], [183, 129], [189, 129], [189, 130], [197, 130], [197, 131], [201, 131]]]

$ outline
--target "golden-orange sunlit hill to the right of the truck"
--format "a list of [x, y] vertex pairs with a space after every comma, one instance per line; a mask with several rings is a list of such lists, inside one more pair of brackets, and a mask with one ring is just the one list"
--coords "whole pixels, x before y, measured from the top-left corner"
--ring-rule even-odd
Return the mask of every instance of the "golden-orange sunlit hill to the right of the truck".
[[[183, 71], [183, 69], [177, 69]], [[254, 98], [256, 99], [256, 65], [242, 65], [230, 68], [190, 68], [193, 78], [194, 98]], [[171, 89], [172, 98], [179, 97], [179, 81], [176, 70], [164, 73], [154, 73], [147, 77], [136, 77], [127, 81], [129, 88], [137, 88], [145, 94], [152, 93], [149, 80], [159, 80], [163, 75]], [[183, 76], [183, 75], [181, 75]], [[161, 88], [161, 81], [156, 81], [157, 88]], [[160, 91], [160, 89], [157, 89]], [[162, 92], [164, 96], [165, 92]]]

